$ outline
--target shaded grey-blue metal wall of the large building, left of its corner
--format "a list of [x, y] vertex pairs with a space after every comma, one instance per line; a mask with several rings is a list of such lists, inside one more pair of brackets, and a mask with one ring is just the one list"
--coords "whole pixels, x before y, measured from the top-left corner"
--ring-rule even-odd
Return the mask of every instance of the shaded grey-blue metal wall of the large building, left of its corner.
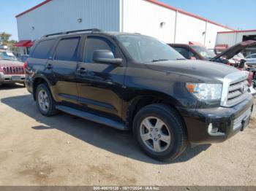
[[85, 28], [119, 31], [119, 0], [53, 0], [21, 15], [17, 24], [19, 40]]

